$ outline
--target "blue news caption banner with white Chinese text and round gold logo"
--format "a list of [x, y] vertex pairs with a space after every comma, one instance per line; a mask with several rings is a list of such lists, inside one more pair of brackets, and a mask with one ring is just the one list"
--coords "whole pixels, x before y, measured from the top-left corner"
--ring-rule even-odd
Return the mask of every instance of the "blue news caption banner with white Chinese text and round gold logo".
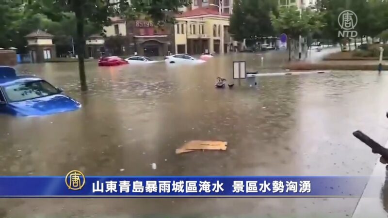
[[357, 197], [368, 177], [0, 176], [1, 198]]

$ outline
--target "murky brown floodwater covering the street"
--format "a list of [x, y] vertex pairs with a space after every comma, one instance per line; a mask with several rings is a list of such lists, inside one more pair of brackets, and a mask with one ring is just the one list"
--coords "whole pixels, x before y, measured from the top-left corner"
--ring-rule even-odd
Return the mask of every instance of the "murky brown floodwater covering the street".
[[[78, 63], [19, 65], [20, 72], [62, 87], [82, 108], [44, 117], [1, 115], [1, 174], [369, 176], [377, 156], [352, 132], [388, 140], [388, 74], [259, 77], [257, 89], [237, 81], [233, 89], [214, 88], [217, 76], [232, 82], [232, 61], [246, 61], [247, 71], [286, 63], [264, 54], [261, 66], [260, 55], [201, 65], [86, 62], [87, 93], [79, 91]], [[228, 149], [176, 155], [188, 140], [225, 140]], [[0, 217], [342, 218], [352, 216], [358, 200], [1, 199]]]

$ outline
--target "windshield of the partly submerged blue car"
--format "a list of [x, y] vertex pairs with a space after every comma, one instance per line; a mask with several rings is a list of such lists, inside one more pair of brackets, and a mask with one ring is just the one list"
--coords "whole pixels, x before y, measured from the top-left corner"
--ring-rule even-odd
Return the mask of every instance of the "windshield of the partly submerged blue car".
[[25, 101], [58, 94], [58, 90], [44, 80], [16, 83], [6, 86], [4, 92], [9, 102]]

